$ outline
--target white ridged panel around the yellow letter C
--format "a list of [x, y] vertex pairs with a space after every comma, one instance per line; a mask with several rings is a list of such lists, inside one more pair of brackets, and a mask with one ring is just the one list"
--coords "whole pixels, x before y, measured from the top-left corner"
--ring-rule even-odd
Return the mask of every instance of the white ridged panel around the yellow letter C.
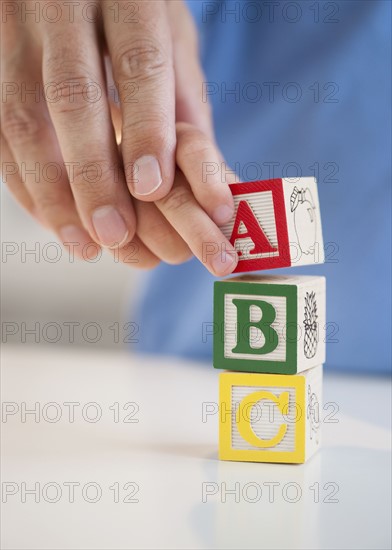
[[295, 423], [287, 422], [287, 418], [296, 417], [296, 395], [295, 388], [281, 388], [271, 386], [233, 386], [232, 388], [232, 415], [231, 415], [231, 430], [232, 430], [232, 448], [240, 450], [263, 452], [258, 447], [254, 447], [244, 440], [238, 432], [235, 414], [240, 402], [249, 394], [258, 391], [267, 391], [279, 397], [283, 392], [289, 394], [289, 406], [285, 414], [279, 410], [279, 407], [272, 400], [265, 399], [258, 401], [249, 411], [250, 425], [252, 431], [257, 437], [263, 440], [269, 440], [276, 435], [280, 426], [287, 426], [286, 433], [283, 439], [275, 446], [268, 447], [268, 451], [272, 452], [294, 452], [295, 450]]

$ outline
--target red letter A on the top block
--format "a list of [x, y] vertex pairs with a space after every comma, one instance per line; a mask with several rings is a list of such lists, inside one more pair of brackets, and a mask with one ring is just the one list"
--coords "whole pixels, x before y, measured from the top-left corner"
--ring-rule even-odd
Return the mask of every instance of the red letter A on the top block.
[[[246, 231], [240, 232], [240, 227], [242, 224], [244, 225]], [[249, 204], [242, 200], [238, 205], [230, 242], [233, 246], [235, 246], [237, 240], [246, 238], [250, 238], [253, 243], [253, 248], [248, 251], [249, 254], [263, 254], [267, 252], [276, 252], [278, 250], [276, 247], [271, 245], [265, 236]], [[241, 248], [238, 250], [238, 255], [242, 256]]]

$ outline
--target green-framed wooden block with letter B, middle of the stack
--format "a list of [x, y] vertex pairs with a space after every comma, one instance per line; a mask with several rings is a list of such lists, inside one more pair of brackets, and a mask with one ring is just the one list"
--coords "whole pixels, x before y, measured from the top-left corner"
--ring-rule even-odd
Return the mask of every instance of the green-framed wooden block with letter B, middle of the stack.
[[214, 285], [214, 367], [296, 374], [325, 362], [325, 278], [242, 275]]

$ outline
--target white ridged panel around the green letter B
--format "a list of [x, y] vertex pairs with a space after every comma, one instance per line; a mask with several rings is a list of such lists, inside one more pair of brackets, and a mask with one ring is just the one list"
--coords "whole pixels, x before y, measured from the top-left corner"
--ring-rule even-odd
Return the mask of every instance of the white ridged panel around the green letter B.
[[[278, 346], [271, 353], [264, 354], [245, 354], [233, 353], [233, 348], [237, 345], [237, 308], [233, 304], [234, 299], [252, 300], [254, 302], [268, 302], [276, 312], [275, 321], [271, 327], [279, 336]], [[284, 339], [285, 325], [287, 318], [287, 298], [285, 296], [255, 296], [247, 294], [226, 294], [225, 295], [225, 343], [224, 356], [225, 358], [244, 359], [248, 361], [286, 361], [286, 342]], [[250, 308], [250, 320], [258, 322], [262, 319], [261, 309], [257, 306]], [[256, 327], [250, 328], [250, 347], [253, 349], [263, 348], [265, 345], [265, 336]]]

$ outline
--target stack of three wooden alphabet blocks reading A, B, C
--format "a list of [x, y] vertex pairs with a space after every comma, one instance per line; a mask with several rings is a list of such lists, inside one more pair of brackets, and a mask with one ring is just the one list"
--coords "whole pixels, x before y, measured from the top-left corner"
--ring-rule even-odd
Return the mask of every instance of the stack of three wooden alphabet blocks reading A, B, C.
[[[230, 186], [222, 230], [235, 272], [324, 262], [314, 178]], [[214, 367], [220, 374], [219, 458], [302, 463], [320, 447], [325, 278], [240, 275], [214, 286]]]

